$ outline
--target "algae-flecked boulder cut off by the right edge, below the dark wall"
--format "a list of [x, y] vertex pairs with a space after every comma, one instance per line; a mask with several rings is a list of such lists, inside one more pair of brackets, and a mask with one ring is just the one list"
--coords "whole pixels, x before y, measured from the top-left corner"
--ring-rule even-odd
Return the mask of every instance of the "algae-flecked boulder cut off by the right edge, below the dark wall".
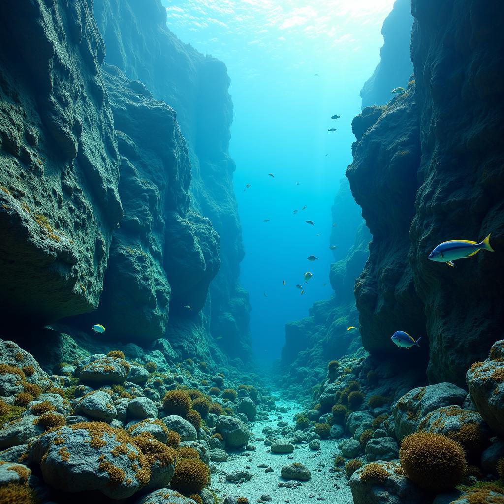
[[496, 341], [484, 362], [475, 362], [466, 373], [474, 406], [497, 434], [504, 436], [504, 340]]

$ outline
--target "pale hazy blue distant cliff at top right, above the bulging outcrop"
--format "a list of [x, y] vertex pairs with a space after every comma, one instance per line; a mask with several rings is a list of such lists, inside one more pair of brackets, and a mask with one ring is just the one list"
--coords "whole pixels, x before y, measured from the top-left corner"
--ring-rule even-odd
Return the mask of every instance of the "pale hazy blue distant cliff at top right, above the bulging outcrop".
[[397, 0], [383, 23], [384, 45], [380, 50], [380, 63], [360, 91], [362, 108], [385, 105], [394, 88], [406, 87], [413, 73], [410, 55], [412, 24], [411, 0]]

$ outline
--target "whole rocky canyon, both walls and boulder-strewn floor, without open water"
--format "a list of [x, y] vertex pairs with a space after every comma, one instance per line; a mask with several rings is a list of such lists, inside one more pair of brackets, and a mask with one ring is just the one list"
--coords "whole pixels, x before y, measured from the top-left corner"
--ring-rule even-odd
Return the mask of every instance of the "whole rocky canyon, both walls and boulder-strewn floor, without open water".
[[504, 5], [391, 3], [266, 369], [228, 70], [165, 4], [2, 7], [0, 504], [504, 502]]

